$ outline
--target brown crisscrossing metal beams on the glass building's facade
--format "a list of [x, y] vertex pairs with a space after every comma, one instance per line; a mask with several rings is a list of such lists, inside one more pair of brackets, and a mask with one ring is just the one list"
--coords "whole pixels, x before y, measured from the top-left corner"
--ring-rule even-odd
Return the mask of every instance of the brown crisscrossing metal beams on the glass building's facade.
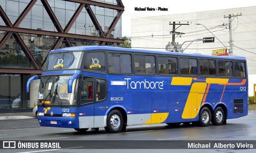
[[[31, 61], [31, 64], [35, 66], [35, 69], [8, 69], [8, 68], [0, 68], [0, 73], [34, 73], [34, 74], [40, 74], [42, 72], [42, 67], [44, 66], [44, 61], [42, 65], [38, 65], [36, 63], [36, 60], [34, 59], [33, 55], [31, 54], [30, 50], [28, 49], [28, 46], [24, 43], [22, 38], [20, 37], [19, 33], [27, 33], [29, 35], [47, 35], [47, 36], [53, 36], [58, 37], [56, 39], [54, 45], [52, 46], [50, 50], [52, 49], [58, 49], [59, 46], [62, 44], [62, 41], [64, 41], [65, 45], [67, 47], [72, 47], [72, 43], [69, 40], [70, 38], [74, 39], [84, 39], [89, 41], [98, 41], [100, 42], [99, 45], [110, 45], [110, 43], [124, 43], [124, 40], [122, 39], [113, 39], [110, 38], [110, 35], [112, 31], [114, 30], [114, 27], [116, 26], [118, 20], [122, 16], [122, 13], [124, 12], [124, 5], [122, 4], [121, 0], [117, 0], [117, 5], [114, 4], [107, 4], [103, 2], [95, 2], [91, 0], [66, 0], [68, 2], [76, 2], [79, 3], [79, 7], [76, 9], [74, 14], [72, 15], [72, 18], [69, 20], [68, 24], [66, 24], [66, 27], [63, 29], [60, 25], [60, 22], [56, 18], [54, 11], [50, 7], [47, 0], [40, 0], [44, 6], [44, 9], [48, 13], [50, 19], [52, 20], [52, 23], [54, 24], [54, 27], [57, 31], [44, 31], [44, 30], [36, 30], [36, 29], [28, 29], [28, 28], [20, 28], [19, 25], [22, 23], [24, 18], [28, 15], [28, 13], [32, 10], [33, 6], [36, 4], [36, 2], [39, 0], [30, 0], [26, 8], [22, 11], [18, 19], [12, 24], [12, 22], [9, 20], [8, 16], [4, 12], [4, 9], [0, 6], [0, 16], [2, 17], [4, 23], [6, 26], [0, 26], [0, 31], [6, 31], [6, 34], [4, 37], [0, 40], [0, 49], [4, 47], [6, 42], [8, 42], [8, 39], [10, 39], [12, 36], [16, 39], [18, 44], [20, 45], [20, 48], [24, 51], [25, 55], [28, 57], [28, 60]], [[108, 28], [107, 33], [104, 33], [102, 30], [102, 27], [100, 26], [94, 12], [92, 11], [91, 6], [100, 6], [104, 8], [110, 8], [118, 11], [118, 14], [112, 21], [110, 27]], [[88, 15], [90, 16], [92, 23], [96, 27], [96, 30], [100, 31], [100, 37], [95, 37], [92, 35], [78, 35], [78, 34], [72, 34], [68, 33], [73, 24], [76, 22], [76, 19], [78, 18], [79, 14], [82, 12], [83, 8], [86, 9]]]

